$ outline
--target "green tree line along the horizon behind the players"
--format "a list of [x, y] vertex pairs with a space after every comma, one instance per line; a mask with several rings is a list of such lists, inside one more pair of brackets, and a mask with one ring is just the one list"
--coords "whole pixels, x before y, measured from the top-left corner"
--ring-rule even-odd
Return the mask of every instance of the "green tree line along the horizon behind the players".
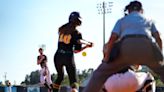
[[[82, 71], [77, 71], [77, 79], [78, 79], [78, 84], [81, 86], [88, 77], [91, 76], [92, 72], [94, 70], [92, 68], [90, 69], [85, 69]], [[154, 76], [156, 85], [157, 86], [164, 86], [164, 84], [161, 82], [160, 77], [156, 75], [154, 72], [152, 72], [149, 68], [144, 67], [142, 71], [149, 71], [151, 74]], [[57, 78], [57, 74], [53, 73], [51, 75], [52, 82], [55, 82], [55, 79]], [[25, 76], [25, 80], [21, 84], [26, 84], [26, 85], [33, 85], [33, 84], [38, 84], [40, 82], [40, 74], [39, 70], [32, 71], [30, 75]], [[64, 80], [62, 81], [63, 86], [69, 85], [69, 77], [68, 75], [64, 76]]]

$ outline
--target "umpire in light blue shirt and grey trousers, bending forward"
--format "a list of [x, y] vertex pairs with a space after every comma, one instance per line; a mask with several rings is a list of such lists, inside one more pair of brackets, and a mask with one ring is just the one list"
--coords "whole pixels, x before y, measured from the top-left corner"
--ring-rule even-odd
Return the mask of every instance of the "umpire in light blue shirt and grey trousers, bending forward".
[[[139, 1], [130, 2], [125, 10], [128, 15], [115, 24], [111, 37], [104, 46], [103, 62], [94, 71], [83, 92], [99, 92], [108, 77], [134, 64], [148, 66], [164, 82], [162, 40], [155, 24], [143, 16]], [[120, 42], [119, 54], [111, 61], [110, 54], [117, 42]]]

